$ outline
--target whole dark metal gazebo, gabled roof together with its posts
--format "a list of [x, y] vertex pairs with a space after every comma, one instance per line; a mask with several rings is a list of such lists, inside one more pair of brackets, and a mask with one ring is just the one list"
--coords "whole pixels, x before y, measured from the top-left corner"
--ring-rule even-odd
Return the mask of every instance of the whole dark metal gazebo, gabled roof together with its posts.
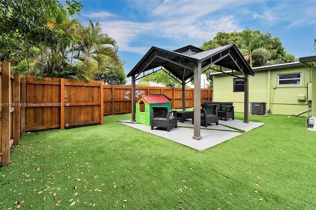
[[[251, 69], [247, 61], [241, 55], [235, 44], [230, 44], [211, 50], [203, 50], [198, 47], [188, 45], [180, 49], [169, 51], [158, 47], [151, 47], [136, 66], [127, 74], [132, 77], [132, 93], [135, 93], [135, 81], [154, 73], [164, 70], [182, 84], [182, 109], [185, 110], [185, 85], [186, 81], [194, 76], [194, 135], [193, 139], [200, 140], [200, 86], [201, 73], [211, 69], [211, 65], [217, 65], [231, 69], [228, 73], [232, 76], [236, 72], [241, 72], [244, 79], [244, 123], [248, 120], [248, 77], [254, 76], [255, 72]], [[220, 70], [221, 71], [221, 70]], [[222, 71], [223, 73], [227, 73]], [[132, 119], [135, 121], [135, 95], [132, 94]]]

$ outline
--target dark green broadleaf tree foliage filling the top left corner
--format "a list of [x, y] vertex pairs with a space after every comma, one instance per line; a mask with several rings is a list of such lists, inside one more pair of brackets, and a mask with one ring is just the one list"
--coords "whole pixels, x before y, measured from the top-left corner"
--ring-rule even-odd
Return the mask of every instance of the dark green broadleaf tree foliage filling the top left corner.
[[[82, 7], [75, 0], [66, 0], [66, 4], [70, 14]], [[62, 8], [58, 0], [0, 0], [0, 59], [11, 61], [17, 50], [24, 52], [21, 56], [32, 57], [32, 48], [50, 36], [48, 19]]]

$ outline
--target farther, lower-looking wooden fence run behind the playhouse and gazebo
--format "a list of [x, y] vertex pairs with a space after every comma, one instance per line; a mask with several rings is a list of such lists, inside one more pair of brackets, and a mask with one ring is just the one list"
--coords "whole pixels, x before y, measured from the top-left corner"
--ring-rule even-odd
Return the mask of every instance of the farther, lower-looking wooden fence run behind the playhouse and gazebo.
[[[182, 108], [182, 88], [136, 86], [135, 89], [136, 101], [141, 95], [163, 94], [171, 100], [173, 109]], [[104, 85], [104, 115], [131, 113], [131, 90], [131, 86]], [[201, 89], [201, 104], [203, 101], [212, 101], [212, 94], [212, 89]], [[194, 88], [186, 88], [185, 97], [186, 108], [193, 107]]]

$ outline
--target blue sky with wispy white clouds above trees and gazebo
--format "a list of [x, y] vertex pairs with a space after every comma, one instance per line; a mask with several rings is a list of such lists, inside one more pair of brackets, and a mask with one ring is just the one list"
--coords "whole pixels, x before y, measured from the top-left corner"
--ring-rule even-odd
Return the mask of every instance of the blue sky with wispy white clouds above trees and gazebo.
[[316, 0], [78, 0], [81, 20], [118, 42], [127, 74], [152, 47], [201, 46], [218, 32], [248, 27], [279, 37], [296, 58], [314, 56]]

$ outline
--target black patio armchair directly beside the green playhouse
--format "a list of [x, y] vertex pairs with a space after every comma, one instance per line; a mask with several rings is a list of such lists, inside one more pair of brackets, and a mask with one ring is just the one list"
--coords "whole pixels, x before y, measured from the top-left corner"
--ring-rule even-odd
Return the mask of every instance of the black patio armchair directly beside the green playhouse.
[[167, 106], [153, 106], [151, 115], [152, 130], [154, 130], [154, 127], [160, 127], [166, 128], [169, 132], [170, 128], [178, 127], [177, 122], [177, 111], [169, 111]]

